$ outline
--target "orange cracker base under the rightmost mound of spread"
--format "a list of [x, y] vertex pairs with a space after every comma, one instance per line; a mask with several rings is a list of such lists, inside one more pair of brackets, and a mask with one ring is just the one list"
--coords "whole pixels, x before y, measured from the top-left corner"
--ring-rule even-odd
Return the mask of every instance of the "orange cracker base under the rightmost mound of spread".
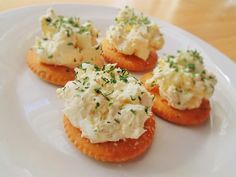
[[[145, 83], [150, 77], [152, 77], [152, 73], [147, 73], [142, 76], [141, 81]], [[147, 89], [155, 95], [152, 111], [169, 122], [180, 125], [198, 125], [209, 118], [211, 108], [208, 100], [203, 100], [199, 108], [178, 110], [168, 105], [167, 101], [160, 97], [158, 88], [147, 87]]]

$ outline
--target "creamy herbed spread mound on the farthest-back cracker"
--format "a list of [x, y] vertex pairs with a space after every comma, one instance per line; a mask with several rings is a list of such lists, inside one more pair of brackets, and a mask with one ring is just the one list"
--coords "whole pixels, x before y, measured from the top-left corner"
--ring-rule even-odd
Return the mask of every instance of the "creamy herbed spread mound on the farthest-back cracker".
[[120, 53], [147, 60], [151, 50], [160, 49], [164, 40], [158, 26], [142, 13], [126, 6], [109, 27], [106, 39]]

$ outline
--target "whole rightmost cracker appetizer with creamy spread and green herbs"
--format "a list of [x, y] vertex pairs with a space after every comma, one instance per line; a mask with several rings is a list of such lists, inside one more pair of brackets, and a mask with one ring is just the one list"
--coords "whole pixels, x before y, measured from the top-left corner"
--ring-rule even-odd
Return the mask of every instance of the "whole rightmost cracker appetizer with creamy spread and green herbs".
[[141, 78], [155, 95], [152, 111], [170, 122], [197, 125], [209, 118], [209, 98], [217, 83], [195, 50], [178, 51], [158, 60], [152, 73]]

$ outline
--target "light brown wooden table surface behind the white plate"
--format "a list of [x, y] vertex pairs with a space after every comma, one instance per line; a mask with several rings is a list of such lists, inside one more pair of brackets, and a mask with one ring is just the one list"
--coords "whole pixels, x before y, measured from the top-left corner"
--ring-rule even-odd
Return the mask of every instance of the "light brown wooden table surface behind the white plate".
[[236, 0], [0, 0], [0, 11], [57, 2], [130, 5], [199, 36], [236, 61]]

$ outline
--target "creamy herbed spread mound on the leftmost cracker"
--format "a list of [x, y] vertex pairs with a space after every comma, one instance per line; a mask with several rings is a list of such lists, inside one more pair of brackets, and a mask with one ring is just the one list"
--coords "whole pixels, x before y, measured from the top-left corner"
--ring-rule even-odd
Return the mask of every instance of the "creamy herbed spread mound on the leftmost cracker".
[[41, 62], [74, 68], [100, 58], [98, 32], [91, 22], [80, 24], [79, 18], [57, 16], [49, 9], [40, 23], [42, 37], [33, 48]]

